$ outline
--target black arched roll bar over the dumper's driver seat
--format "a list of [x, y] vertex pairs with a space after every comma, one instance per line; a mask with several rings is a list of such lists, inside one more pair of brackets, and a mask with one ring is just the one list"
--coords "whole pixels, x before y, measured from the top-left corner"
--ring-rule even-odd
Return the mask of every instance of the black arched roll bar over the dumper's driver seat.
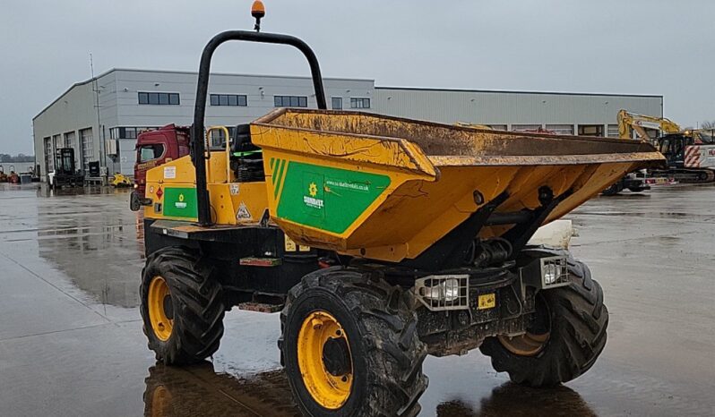
[[317, 101], [318, 108], [322, 110], [328, 108], [325, 103], [325, 91], [323, 89], [323, 77], [320, 73], [320, 65], [313, 50], [308, 47], [306, 42], [289, 35], [247, 30], [228, 30], [211, 38], [209, 43], [206, 44], [206, 47], [203, 47], [201, 55], [199, 80], [196, 85], [194, 124], [191, 126], [191, 161], [194, 163], [194, 169], [196, 170], [196, 199], [198, 203], [199, 226], [211, 226], [211, 206], [209, 204], [209, 191], [206, 184], [206, 159], [204, 157], [206, 149], [204, 148], [203, 141], [203, 130], [205, 127], [203, 121], [206, 116], [206, 96], [208, 95], [209, 76], [211, 74], [211, 58], [216, 49], [229, 40], [243, 40], [246, 42], [296, 47], [306, 56], [308, 64], [310, 65], [313, 87], [315, 89], [315, 100]]

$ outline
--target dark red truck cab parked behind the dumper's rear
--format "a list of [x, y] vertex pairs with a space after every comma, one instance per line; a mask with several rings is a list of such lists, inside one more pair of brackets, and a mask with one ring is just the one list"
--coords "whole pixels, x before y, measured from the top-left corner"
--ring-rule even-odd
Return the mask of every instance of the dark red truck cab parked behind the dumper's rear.
[[188, 126], [167, 124], [137, 137], [132, 206], [144, 200], [147, 171], [189, 154], [189, 132]]

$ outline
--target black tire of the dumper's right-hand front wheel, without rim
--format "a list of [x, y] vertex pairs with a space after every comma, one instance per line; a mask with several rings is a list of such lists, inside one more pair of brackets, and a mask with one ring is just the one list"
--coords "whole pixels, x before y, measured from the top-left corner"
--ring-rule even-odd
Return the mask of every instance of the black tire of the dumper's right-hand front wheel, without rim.
[[521, 356], [507, 350], [497, 337], [487, 337], [482, 353], [498, 372], [530, 387], [554, 387], [590, 369], [606, 345], [608, 310], [603, 290], [581, 261], [569, 260], [571, 285], [543, 290], [550, 318], [550, 336], [540, 352]]

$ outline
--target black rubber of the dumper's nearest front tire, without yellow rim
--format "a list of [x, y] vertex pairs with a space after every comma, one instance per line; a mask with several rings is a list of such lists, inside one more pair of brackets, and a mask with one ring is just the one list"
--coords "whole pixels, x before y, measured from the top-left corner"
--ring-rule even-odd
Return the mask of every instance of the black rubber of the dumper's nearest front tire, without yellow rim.
[[[327, 268], [303, 277], [280, 314], [279, 340], [281, 362], [300, 410], [314, 417], [416, 416], [428, 381], [422, 373], [426, 346], [418, 338], [413, 302], [409, 291], [355, 269]], [[314, 400], [298, 365], [298, 334], [314, 311], [331, 314], [349, 340], [352, 386], [337, 409]]]

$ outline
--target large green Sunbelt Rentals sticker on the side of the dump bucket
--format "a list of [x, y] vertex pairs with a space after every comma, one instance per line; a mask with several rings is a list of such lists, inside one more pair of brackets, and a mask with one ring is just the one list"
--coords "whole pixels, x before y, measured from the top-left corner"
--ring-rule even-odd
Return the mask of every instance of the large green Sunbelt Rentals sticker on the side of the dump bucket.
[[[280, 161], [279, 161], [280, 164]], [[287, 166], [278, 217], [343, 233], [390, 185], [390, 177], [299, 162]], [[281, 186], [279, 178], [274, 187]]]

